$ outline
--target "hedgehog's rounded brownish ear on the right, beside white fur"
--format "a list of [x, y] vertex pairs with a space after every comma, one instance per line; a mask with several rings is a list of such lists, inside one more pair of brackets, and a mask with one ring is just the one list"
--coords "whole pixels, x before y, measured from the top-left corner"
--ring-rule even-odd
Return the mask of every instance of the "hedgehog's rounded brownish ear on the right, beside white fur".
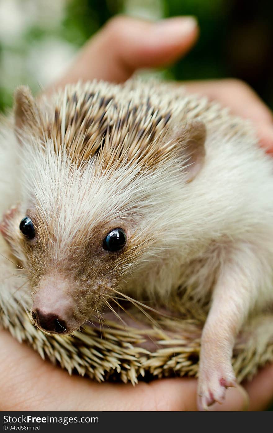
[[178, 141], [182, 152], [183, 171], [186, 182], [191, 182], [199, 173], [205, 159], [206, 127], [201, 120], [192, 120], [174, 131], [173, 138]]

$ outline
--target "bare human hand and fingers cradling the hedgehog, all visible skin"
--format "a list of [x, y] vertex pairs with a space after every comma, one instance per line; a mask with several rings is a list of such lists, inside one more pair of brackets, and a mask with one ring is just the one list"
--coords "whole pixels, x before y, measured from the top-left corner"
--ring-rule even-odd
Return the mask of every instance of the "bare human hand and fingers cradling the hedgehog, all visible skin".
[[[143, 67], [166, 65], [184, 55], [198, 35], [192, 18], [173, 18], [158, 24], [117, 17], [82, 49], [78, 59], [54, 87], [68, 82], [103, 78], [122, 82]], [[246, 84], [208, 81], [186, 84], [189, 91], [217, 98], [234, 113], [257, 125], [262, 145], [273, 151], [272, 116]], [[50, 92], [53, 90], [48, 89]], [[231, 95], [234, 94], [234, 98]], [[149, 384], [97, 384], [44, 362], [6, 331], [0, 333], [0, 410], [197, 410], [197, 380], [161, 379]], [[262, 410], [273, 397], [273, 367], [264, 368], [245, 385], [250, 410]], [[243, 410], [246, 394], [241, 387], [227, 391], [223, 405], [212, 410]]]

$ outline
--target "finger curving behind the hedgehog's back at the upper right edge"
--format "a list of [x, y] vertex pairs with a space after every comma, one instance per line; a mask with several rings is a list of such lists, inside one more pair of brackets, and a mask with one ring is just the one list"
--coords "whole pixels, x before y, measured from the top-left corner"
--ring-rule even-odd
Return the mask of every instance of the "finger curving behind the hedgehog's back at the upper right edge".
[[246, 83], [240, 80], [192, 81], [185, 83], [185, 87], [191, 93], [218, 100], [234, 114], [252, 120], [260, 145], [273, 153], [273, 114]]

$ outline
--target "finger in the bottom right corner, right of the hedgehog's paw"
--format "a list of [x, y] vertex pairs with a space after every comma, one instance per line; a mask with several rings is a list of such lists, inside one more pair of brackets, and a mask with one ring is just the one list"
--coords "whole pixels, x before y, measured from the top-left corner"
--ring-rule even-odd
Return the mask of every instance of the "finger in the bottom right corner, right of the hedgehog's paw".
[[265, 410], [273, 404], [273, 365], [263, 368], [250, 382], [244, 383], [250, 397], [249, 410]]

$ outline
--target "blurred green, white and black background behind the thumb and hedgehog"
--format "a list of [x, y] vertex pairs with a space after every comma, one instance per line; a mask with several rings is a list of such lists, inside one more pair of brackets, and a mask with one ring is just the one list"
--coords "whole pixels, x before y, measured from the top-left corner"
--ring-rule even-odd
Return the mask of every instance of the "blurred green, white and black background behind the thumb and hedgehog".
[[197, 45], [161, 71], [174, 79], [237, 77], [273, 108], [273, 2], [260, 0], [0, 0], [0, 110], [14, 88], [54, 81], [109, 18], [194, 15]]

